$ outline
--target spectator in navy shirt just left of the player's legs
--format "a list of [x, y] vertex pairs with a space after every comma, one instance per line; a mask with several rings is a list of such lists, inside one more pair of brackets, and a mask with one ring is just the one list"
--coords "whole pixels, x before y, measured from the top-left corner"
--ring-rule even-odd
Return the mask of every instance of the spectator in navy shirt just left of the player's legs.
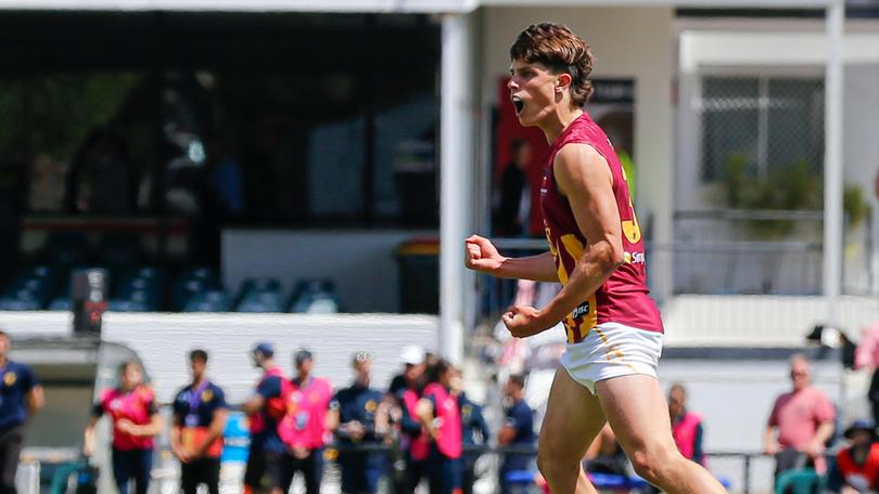
[[[499, 446], [512, 446], [517, 448], [532, 448], [535, 445], [534, 434], [534, 411], [531, 410], [524, 400], [525, 378], [514, 374], [509, 377], [504, 387], [504, 394], [508, 401], [505, 413], [506, 421], [497, 433]], [[532, 455], [509, 453], [504, 455], [504, 461], [499, 471], [500, 492], [510, 492], [507, 477], [517, 470], [527, 470]]]

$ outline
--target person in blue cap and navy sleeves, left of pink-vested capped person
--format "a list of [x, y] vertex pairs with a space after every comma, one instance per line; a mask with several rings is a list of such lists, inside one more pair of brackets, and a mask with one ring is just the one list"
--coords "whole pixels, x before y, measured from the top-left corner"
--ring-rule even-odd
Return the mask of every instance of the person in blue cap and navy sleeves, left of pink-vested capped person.
[[241, 410], [251, 426], [251, 446], [244, 469], [245, 494], [281, 494], [286, 463], [286, 446], [278, 434], [278, 424], [284, 416], [286, 376], [275, 362], [275, 348], [260, 342], [254, 347], [253, 364], [263, 370], [251, 398]]

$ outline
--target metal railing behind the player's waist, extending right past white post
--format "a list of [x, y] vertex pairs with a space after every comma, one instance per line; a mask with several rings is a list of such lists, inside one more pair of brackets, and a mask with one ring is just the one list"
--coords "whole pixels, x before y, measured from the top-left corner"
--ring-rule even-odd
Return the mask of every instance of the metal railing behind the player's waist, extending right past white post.
[[[671, 265], [675, 295], [819, 295], [823, 222], [824, 213], [815, 210], [676, 211], [674, 240], [646, 242], [648, 269]], [[876, 222], [869, 218], [857, 227], [846, 227], [846, 295], [872, 294], [879, 287], [876, 233]], [[547, 250], [542, 238], [497, 238], [494, 243], [511, 257]], [[519, 286], [515, 280], [479, 275], [480, 314], [497, 318], [513, 301]]]

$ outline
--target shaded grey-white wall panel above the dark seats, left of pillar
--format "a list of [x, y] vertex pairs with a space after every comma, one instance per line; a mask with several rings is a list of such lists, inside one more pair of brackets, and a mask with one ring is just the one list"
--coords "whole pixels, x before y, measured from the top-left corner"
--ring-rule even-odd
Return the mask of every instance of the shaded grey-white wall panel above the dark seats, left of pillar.
[[[222, 276], [237, 292], [247, 277], [275, 277], [285, 292], [300, 278], [330, 278], [347, 312], [398, 312], [395, 251], [430, 231], [227, 230], [222, 234]], [[463, 266], [461, 266], [463, 269]]]

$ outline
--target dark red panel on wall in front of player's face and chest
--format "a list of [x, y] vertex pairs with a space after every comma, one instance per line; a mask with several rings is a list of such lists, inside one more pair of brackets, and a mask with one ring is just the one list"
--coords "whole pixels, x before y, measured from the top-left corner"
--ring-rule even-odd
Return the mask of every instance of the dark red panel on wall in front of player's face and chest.
[[504, 169], [510, 165], [510, 144], [515, 139], [523, 139], [531, 144], [532, 154], [528, 164], [528, 185], [531, 188], [531, 225], [532, 235], [544, 234], [544, 217], [540, 212], [540, 181], [543, 180], [543, 165], [549, 144], [546, 136], [536, 127], [522, 127], [515, 116], [515, 108], [510, 101], [510, 90], [507, 89], [507, 76], [498, 80], [498, 115], [495, 133], [495, 184], [500, 182]]

